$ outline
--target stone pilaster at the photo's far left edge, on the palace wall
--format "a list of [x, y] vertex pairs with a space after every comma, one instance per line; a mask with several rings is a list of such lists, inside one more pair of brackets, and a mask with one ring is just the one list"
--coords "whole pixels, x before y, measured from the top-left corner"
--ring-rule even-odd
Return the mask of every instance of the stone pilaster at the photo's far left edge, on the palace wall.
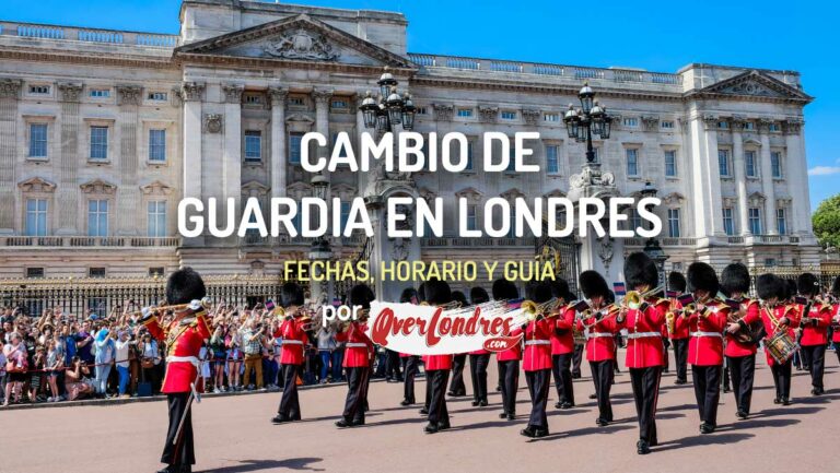
[[23, 81], [0, 79], [0, 235], [14, 234], [18, 100]]

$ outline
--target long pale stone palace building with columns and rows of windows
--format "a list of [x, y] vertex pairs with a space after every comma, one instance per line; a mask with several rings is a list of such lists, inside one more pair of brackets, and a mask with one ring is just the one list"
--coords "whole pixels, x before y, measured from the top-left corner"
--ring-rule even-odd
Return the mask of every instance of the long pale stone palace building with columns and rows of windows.
[[[598, 162], [622, 194], [651, 182], [663, 199], [666, 269], [819, 263], [803, 120], [812, 97], [795, 71], [409, 52], [410, 19], [381, 11], [185, 0], [178, 19], [172, 36], [0, 20], [0, 277], [144, 277], [179, 265], [281, 274], [311, 240], [183, 239], [178, 202], [311, 196], [302, 135], [345, 131], [358, 143], [359, 105], [384, 68], [411, 94], [415, 131], [462, 132], [470, 157], [483, 154], [485, 131], [537, 131], [542, 172], [482, 173], [478, 158], [459, 175], [338, 169], [327, 197], [364, 197], [375, 224], [390, 196], [442, 197], [453, 234], [331, 237], [335, 259], [533, 260], [534, 238], [458, 237], [454, 197], [469, 199], [477, 222], [491, 198], [565, 196], [585, 146], [569, 140], [563, 114], [588, 81], [615, 117], [611, 137], [594, 143]], [[559, 259], [574, 269], [574, 241], [563, 244]], [[628, 239], [623, 250], [643, 246]]]

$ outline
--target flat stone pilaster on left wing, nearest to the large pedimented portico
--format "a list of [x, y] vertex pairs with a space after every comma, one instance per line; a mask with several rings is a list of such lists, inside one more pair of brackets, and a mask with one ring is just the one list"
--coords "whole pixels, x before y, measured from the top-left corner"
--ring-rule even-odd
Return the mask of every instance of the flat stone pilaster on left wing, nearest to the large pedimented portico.
[[[116, 213], [113, 232], [115, 235], [139, 235], [137, 213], [140, 209], [140, 190], [138, 189], [138, 155], [137, 140], [138, 108], [142, 100], [143, 87], [139, 85], [117, 85], [117, 104], [119, 105], [119, 162], [116, 167], [121, 178], [116, 190]], [[145, 157], [145, 156], [144, 156]]]

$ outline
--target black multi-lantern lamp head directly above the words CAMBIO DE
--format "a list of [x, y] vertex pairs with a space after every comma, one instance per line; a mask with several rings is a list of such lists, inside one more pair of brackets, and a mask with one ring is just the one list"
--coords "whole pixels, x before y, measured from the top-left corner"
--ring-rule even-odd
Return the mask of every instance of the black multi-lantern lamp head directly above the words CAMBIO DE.
[[380, 133], [387, 133], [394, 131], [395, 126], [402, 125], [405, 131], [411, 131], [415, 128], [417, 114], [411, 96], [408, 93], [399, 95], [397, 92], [399, 82], [387, 69], [376, 84], [380, 86], [380, 96], [374, 98], [368, 91], [359, 107], [364, 116], [364, 127], [376, 129]]

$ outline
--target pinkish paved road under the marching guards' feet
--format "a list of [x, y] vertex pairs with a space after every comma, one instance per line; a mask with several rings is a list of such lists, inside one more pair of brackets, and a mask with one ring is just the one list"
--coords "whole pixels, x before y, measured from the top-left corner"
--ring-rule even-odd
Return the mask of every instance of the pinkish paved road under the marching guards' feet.
[[[454, 428], [424, 435], [417, 407], [400, 407], [401, 385], [371, 387], [368, 425], [338, 430], [346, 389], [335, 386], [301, 393], [305, 421], [269, 423], [279, 393], [206, 398], [194, 413], [196, 471], [354, 472], [827, 472], [837, 471], [840, 425], [840, 369], [827, 353], [827, 394], [813, 398], [809, 379], [796, 374], [794, 404], [772, 404], [770, 370], [759, 353], [754, 416], [736, 421], [732, 394], [722, 395], [719, 430], [698, 434], [698, 413], [690, 385], [662, 381], [657, 413], [660, 441], [646, 457], [635, 454], [635, 412], [629, 376], [614, 389], [616, 423], [595, 426], [594, 392], [584, 378], [574, 383], [578, 406], [550, 407], [551, 435], [529, 440], [529, 400], [521, 379], [518, 418], [499, 419], [500, 395], [491, 405], [472, 407], [469, 398], [450, 400]], [[673, 362], [672, 362], [673, 363]], [[672, 365], [673, 366], [673, 365]], [[468, 375], [467, 375], [468, 377]], [[495, 385], [494, 370], [490, 386]], [[469, 380], [467, 379], [469, 389]], [[418, 383], [422, 397], [424, 382]], [[556, 394], [551, 394], [553, 405]], [[166, 409], [161, 402], [0, 411], [0, 472], [153, 472], [160, 464]]]

